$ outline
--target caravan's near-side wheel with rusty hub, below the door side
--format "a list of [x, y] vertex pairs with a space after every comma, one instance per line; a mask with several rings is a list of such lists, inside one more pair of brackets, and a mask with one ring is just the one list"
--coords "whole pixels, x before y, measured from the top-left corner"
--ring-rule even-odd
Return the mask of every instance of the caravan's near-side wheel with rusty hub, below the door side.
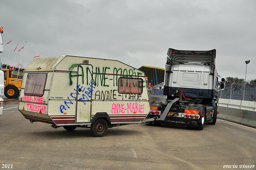
[[102, 137], [108, 131], [108, 124], [104, 119], [97, 119], [91, 126], [91, 132], [96, 137]]

